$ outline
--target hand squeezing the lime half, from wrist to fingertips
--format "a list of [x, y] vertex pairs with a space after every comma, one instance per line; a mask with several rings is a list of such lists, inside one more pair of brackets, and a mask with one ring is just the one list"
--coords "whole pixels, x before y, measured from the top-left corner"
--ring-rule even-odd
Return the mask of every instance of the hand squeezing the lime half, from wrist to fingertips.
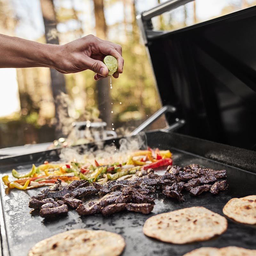
[[53, 68], [61, 73], [76, 73], [91, 69], [96, 73], [94, 79], [101, 79], [108, 76], [108, 68], [103, 63], [106, 55], [112, 55], [117, 59], [118, 69], [113, 77], [117, 78], [120, 73], [123, 73], [124, 59], [122, 47], [119, 44], [88, 35], [70, 43], [58, 45], [57, 49], [52, 57]]

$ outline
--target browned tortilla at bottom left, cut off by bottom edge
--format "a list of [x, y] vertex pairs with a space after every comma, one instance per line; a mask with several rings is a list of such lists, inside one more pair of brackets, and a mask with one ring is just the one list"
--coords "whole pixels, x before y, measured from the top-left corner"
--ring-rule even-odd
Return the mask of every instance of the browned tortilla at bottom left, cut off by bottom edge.
[[116, 233], [73, 229], [38, 242], [28, 256], [117, 256], [124, 247], [123, 237]]

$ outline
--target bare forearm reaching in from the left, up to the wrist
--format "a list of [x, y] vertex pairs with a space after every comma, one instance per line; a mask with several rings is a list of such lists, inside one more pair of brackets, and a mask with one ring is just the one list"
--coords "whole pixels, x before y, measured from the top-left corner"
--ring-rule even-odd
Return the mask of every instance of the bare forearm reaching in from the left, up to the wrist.
[[58, 45], [0, 34], [0, 68], [51, 67]]

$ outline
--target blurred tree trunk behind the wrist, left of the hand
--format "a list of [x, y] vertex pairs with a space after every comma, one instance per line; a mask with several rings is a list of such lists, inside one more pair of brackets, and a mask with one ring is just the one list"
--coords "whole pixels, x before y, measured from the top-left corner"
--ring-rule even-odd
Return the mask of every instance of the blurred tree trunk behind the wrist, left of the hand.
[[[40, 3], [44, 19], [46, 43], [59, 44], [57, 20], [53, 0], [40, 0]], [[67, 137], [70, 118], [68, 117], [67, 102], [66, 99], [64, 99], [64, 94], [66, 94], [65, 78], [62, 73], [55, 69], [50, 68], [50, 71], [56, 118], [55, 136], [56, 138]]]

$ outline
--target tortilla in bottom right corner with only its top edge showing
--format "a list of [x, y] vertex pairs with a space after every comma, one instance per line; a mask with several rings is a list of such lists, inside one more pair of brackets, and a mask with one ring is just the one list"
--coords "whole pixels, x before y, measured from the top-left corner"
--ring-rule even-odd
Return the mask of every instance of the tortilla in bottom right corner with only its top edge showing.
[[183, 256], [255, 256], [256, 250], [245, 249], [242, 247], [228, 246], [222, 248], [201, 247]]

